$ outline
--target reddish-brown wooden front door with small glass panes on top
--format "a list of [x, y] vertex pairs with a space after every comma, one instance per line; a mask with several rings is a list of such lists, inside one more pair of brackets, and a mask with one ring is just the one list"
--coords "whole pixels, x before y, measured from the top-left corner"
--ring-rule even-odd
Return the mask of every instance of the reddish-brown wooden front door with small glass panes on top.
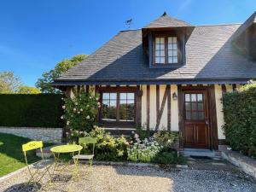
[[209, 148], [207, 90], [183, 90], [184, 148]]

